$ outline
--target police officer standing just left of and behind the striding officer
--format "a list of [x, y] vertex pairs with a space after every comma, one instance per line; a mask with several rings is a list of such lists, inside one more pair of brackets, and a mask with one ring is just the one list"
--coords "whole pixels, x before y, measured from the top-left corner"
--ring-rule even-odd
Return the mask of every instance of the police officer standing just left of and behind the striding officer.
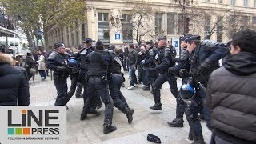
[[156, 67], [154, 62], [155, 55], [158, 54], [158, 50], [154, 48], [154, 42], [148, 41], [146, 42], [146, 54], [144, 61], [142, 60], [142, 68], [146, 70], [146, 86], [142, 87], [143, 90], [150, 90], [150, 86], [154, 83], [154, 81], [158, 78], [158, 71], [152, 68]]

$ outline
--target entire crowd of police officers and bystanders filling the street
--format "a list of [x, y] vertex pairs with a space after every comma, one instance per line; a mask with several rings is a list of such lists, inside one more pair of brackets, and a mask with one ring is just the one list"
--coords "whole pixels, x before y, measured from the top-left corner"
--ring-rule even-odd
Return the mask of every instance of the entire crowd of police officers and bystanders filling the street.
[[[45, 79], [46, 69], [53, 70], [58, 92], [55, 105], [65, 106], [76, 93], [76, 97], [84, 101], [80, 120], [85, 120], [88, 114], [99, 115], [97, 109], [102, 107], [103, 102], [104, 134], [117, 130], [112, 124], [114, 106], [126, 114], [129, 124], [133, 121], [134, 109], [120, 90], [125, 81], [124, 72], [130, 77], [128, 90], [141, 84], [143, 90], [151, 91], [154, 98], [151, 110], [162, 110], [161, 87], [168, 82], [177, 107], [176, 118], [167, 125], [183, 127], [185, 114], [190, 126], [188, 138], [194, 144], [205, 143], [199, 114], [213, 133], [210, 143], [255, 143], [255, 42], [254, 30], [235, 33], [226, 45], [203, 40], [199, 35], [186, 34], [181, 37], [182, 50], [180, 57], [176, 58], [176, 51], [168, 45], [165, 36], [158, 38], [157, 45], [147, 41], [139, 46], [126, 45], [124, 50], [115, 46], [105, 47], [100, 40], [93, 46], [93, 40], [86, 38], [74, 53], [58, 42], [48, 56], [39, 51], [38, 60], [34, 60], [28, 54], [26, 63], [29, 69], [26, 71], [30, 79], [29, 72], [34, 71], [31, 68], [38, 64], [38, 72]], [[8, 73], [10, 69], [11, 74], [17, 77], [16, 86], [11, 82], [2, 84], [3, 80], [11, 77]], [[0, 96], [5, 96], [1, 97], [0, 105], [29, 105], [30, 95], [24, 72], [11, 66], [11, 61], [3, 52], [0, 53], [0, 70]], [[67, 86], [69, 76], [70, 91]], [[179, 89], [178, 77], [182, 78]], [[15, 88], [11, 90], [15, 93], [10, 93], [12, 86]]]

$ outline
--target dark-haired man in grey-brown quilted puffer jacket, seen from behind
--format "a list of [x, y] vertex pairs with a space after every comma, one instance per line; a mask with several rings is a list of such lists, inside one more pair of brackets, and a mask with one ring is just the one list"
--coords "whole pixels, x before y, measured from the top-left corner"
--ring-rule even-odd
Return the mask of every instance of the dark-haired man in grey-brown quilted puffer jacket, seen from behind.
[[256, 32], [233, 35], [224, 66], [210, 75], [212, 143], [256, 143]]

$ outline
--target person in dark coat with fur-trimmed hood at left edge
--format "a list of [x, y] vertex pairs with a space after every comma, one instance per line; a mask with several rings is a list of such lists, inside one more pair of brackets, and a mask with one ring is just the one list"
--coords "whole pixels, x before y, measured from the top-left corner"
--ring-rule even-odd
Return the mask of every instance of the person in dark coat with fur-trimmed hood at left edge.
[[30, 105], [29, 84], [24, 73], [13, 65], [9, 54], [0, 52], [0, 106]]

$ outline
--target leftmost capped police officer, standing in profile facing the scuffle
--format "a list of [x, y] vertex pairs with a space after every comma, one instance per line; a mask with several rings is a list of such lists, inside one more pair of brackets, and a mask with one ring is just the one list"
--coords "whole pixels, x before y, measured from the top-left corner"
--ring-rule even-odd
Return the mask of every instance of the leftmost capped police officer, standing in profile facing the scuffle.
[[54, 71], [54, 85], [58, 92], [55, 101], [55, 106], [66, 105], [67, 84], [66, 78], [69, 76], [66, 65], [65, 46], [62, 42], [54, 44], [55, 51], [53, 51], [47, 58], [46, 67]]

